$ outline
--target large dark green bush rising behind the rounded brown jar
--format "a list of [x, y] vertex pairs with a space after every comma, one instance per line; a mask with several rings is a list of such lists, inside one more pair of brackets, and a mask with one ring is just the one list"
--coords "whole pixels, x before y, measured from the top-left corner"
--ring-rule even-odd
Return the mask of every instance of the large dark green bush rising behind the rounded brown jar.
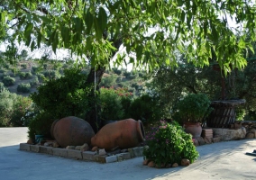
[[79, 69], [71, 68], [64, 71], [59, 79], [50, 79], [38, 87], [38, 92], [32, 93], [33, 102], [52, 118], [59, 119], [66, 116], [84, 118], [90, 110], [89, 101], [92, 85], [86, 84], [87, 76], [82, 75]]

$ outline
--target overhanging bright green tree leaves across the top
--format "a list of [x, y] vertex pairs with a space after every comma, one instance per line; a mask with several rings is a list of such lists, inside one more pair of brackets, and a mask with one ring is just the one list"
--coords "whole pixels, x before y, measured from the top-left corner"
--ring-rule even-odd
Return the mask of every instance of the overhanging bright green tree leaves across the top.
[[214, 55], [226, 73], [246, 66], [243, 55], [256, 40], [254, 0], [10, 0], [0, 7], [0, 31], [13, 29], [31, 49], [70, 49], [92, 67], [108, 66], [122, 44], [135, 67], [175, 67], [177, 54], [203, 67]]

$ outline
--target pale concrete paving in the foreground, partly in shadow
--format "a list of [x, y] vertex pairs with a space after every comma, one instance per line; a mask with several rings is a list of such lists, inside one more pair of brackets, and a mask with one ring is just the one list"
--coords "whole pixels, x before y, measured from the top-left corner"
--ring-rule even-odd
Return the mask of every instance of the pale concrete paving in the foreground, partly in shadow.
[[219, 142], [197, 147], [200, 157], [190, 166], [151, 168], [142, 157], [99, 164], [19, 150], [27, 128], [0, 128], [1, 180], [150, 180], [256, 179], [256, 139]]

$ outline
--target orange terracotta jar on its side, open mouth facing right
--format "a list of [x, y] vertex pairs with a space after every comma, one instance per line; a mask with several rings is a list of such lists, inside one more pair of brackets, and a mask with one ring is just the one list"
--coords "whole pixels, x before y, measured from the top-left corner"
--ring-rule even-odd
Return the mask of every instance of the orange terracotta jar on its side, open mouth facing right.
[[91, 145], [111, 150], [112, 148], [133, 148], [144, 141], [142, 121], [126, 119], [106, 124], [91, 139]]

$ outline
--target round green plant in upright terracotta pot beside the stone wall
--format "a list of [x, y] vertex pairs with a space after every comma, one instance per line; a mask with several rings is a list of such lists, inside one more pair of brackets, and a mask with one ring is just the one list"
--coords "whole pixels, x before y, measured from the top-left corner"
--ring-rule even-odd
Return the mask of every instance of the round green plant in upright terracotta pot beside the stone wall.
[[185, 131], [192, 134], [193, 138], [201, 136], [202, 124], [212, 111], [210, 103], [206, 94], [187, 94], [178, 101], [178, 119], [182, 121]]

